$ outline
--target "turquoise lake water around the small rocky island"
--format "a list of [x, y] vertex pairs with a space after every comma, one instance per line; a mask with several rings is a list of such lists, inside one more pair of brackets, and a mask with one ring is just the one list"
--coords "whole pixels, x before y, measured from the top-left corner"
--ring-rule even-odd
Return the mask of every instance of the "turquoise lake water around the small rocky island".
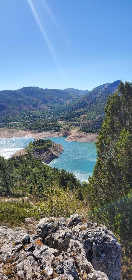
[[[88, 181], [92, 175], [96, 162], [96, 148], [94, 142], [68, 142], [66, 137], [52, 137], [55, 143], [62, 144], [64, 152], [48, 165], [56, 168], [63, 168], [73, 172], [77, 179]], [[11, 157], [15, 152], [26, 147], [33, 137], [0, 138], [0, 155], [5, 158]]]

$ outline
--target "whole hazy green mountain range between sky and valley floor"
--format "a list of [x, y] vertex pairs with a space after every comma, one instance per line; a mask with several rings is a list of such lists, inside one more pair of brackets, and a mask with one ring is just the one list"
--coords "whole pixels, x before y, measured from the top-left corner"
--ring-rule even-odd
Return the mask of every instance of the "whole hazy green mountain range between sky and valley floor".
[[95, 87], [92, 91], [74, 88], [42, 89], [35, 86], [23, 87], [15, 91], [0, 91], [0, 115], [11, 116], [23, 110], [50, 110], [60, 108], [60, 112], [70, 114], [82, 110], [89, 119], [104, 112], [109, 94], [118, 89], [120, 80]]

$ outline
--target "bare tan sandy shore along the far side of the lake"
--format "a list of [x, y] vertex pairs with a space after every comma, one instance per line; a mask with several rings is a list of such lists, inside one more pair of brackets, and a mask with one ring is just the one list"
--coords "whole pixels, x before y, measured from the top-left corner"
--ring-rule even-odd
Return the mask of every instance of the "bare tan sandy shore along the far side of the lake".
[[[39, 132], [33, 133], [29, 130], [18, 130], [14, 128], [0, 128], [0, 138], [12, 138], [12, 137], [34, 137], [34, 140], [49, 137], [62, 136], [60, 132]], [[71, 134], [65, 139], [66, 141], [77, 142], [96, 142], [97, 134], [90, 134], [84, 132], [78, 132], [78, 129], [71, 130]]]

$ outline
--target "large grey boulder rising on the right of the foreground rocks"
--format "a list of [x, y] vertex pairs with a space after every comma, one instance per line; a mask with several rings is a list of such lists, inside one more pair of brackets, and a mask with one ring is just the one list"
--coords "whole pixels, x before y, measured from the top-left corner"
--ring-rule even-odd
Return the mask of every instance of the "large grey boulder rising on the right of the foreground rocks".
[[[110, 280], [120, 279], [121, 245], [106, 226], [86, 221], [77, 214], [68, 218], [66, 225], [58, 223], [54, 230], [51, 220], [49, 224], [50, 230], [43, 239], [45, 245], [75, 254], [78, 267], [87, 273], [94, 269], [106, 273]], [[41, 235], [38, 231], [37, 234]]]

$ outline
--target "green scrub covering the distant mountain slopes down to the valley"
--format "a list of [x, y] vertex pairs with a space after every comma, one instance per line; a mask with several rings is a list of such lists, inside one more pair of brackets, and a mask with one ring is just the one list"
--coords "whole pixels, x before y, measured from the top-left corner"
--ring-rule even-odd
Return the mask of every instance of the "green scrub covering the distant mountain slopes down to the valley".
[[[61, 120], [78, 121], [104, 115], [108, 95], [114, 94], [120, 80], [95, 87], [92, 91], [78, 89], [42, 89], [23, 87], [15, 91], [0, 91], [0, 121], [22, 121], [38, 115], [55, 115]], [[31, 112], [31, 114], [30, 114]]]

